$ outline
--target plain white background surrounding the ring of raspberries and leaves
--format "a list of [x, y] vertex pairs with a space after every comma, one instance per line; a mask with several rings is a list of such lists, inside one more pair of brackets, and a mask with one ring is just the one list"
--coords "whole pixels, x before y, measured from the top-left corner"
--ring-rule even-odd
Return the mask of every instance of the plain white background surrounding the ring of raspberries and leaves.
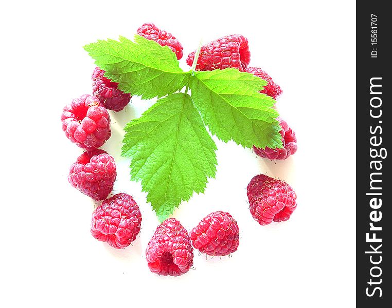
[[[0, 301], [4, 307], [264, 306], [351, 307], [355, 287], [355, 3], [330, 1], [17, 2], [1, 10], [2, 201]], [[199, 41], [245, 35], [251, 66], [282, 87], [276, 106], [298, 151], [270, 162], [232, 142], [218, 145], [218, 171], [204, 195], [173, 217], [189, 230], [215, 210], [240, 227], [230, 258], [194, 254], [181, 277], [149, 272], [145, 249], [158, 220], [129, 161], [123, 126], [153, 102], [134, 97], [112, 116], [103, 148], [118, 168], [114, 192], [142, 212], [140, 236], [116, 250], [90, 234], [94, 203], [67, 182], [81, 150], [61, 130], [62, 108], [91, 92], [93, 61], [82, 46], [132, 37], [145, 22], [172, 32], [187, 54]], [[291, 184], [298, 207], [260, 226], [246, 185], [264, 172]]]

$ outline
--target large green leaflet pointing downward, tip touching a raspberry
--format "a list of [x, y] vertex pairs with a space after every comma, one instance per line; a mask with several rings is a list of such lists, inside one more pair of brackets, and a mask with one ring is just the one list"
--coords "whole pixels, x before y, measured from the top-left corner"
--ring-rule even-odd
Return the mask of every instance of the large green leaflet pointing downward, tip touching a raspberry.
[[188, 94], [158, 100], [125, 131], [121, 155], [132, 158], [131, 179], [161, 221], [215, 177], [217, 147]]

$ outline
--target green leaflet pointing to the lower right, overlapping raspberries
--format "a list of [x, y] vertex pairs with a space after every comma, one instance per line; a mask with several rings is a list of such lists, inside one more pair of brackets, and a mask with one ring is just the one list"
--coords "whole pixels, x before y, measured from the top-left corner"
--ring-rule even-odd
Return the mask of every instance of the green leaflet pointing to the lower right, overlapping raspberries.
[[190, 79], [192, 100], [211, 133], [244, 147], [281, 148], [275, 101], [258, 92], [265, 85], [234, 68], [198, 71]]

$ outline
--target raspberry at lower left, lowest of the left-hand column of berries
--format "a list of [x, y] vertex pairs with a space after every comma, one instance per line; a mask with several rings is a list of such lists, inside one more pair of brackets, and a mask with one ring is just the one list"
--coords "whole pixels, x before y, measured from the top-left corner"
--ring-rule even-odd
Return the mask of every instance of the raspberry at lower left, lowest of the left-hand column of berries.
[[93, 212], [91, 234], [114, 248], [126, 248], [140, 232], [141, 214], [132, 196], [117, 194]]

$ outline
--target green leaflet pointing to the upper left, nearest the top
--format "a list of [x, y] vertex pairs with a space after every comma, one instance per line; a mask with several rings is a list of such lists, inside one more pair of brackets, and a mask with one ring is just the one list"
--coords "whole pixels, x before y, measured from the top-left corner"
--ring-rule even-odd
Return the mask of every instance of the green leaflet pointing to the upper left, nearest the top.
[[118, 82], [118, 88], [142, 99], [163, 97], [182, 89], [189, 82], [169, 47], [135, 35], [135, 42], [120, 36], [115, 40], [88, 44], [83, 47], [105, 76]]

